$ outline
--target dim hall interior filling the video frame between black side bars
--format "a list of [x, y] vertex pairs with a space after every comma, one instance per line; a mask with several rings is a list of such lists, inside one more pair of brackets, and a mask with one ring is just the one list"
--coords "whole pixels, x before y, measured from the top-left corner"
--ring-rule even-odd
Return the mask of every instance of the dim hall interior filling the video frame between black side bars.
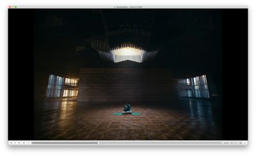
[[221, 10], [34, 13], [35, 139], [221, 139]]

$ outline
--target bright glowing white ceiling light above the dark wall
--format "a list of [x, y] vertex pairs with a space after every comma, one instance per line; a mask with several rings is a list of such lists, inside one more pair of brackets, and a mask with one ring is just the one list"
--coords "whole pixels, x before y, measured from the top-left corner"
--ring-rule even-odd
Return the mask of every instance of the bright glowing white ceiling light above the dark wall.
[[132, 60], [134, 62], [142, 62], [145, 51], [136, 48], [126, 47], [116, 50], [112, 50], [115, 62], [121, 62], [124, 60]]

